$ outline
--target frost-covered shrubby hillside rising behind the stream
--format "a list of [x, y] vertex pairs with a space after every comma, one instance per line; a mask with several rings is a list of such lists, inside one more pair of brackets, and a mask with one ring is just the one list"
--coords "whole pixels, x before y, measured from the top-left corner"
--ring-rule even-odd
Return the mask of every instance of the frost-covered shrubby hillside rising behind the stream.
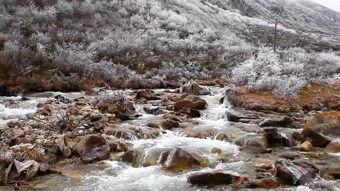
[[[291, 2], [267, 0], [262, 5], [244, 0], [0, 0], [0, 76], [13, 78], [41, 68], [58, 68], [66, 76], [77, 73], [135, 87], [162, 86], [166, 80], [233, 77], [237, 84], [251, 89], [294, 96], [305, 81], [337, 79], [339, 52], [332, 51], [340, 50], [340, 42], [334, 36], [308, 33], [315, 27], [295, 30], [297, 23], [319, 22], [315, 15], [303, 16], [303, 22], [292, 17], [278, 26], [280, 56], [269, 53], [272, 15], [288, 17], [294, 14], [291, 6]], [[295, 6], [302, 13], [323, 8], [300, 2]], [[276, 12], [267, 15], [263, 9]], [[335, 35], [328, 26], [339, 24], [339, 13], [320, 14], [327, 27], [320, 25], [318, 31]], [[268, 57], [278, 65], [297, 68], [280, 67], [289, 71], [275, 76], [269, 70], [247, 70], [257, 76], [244, 76], [242, 65], [258, 64]], [[301, 68], [302, 72], [291, 71]], [[276, 80], [276, 85], [263, 84], [265, 77]], [[302, 82], [299, 87], [289, 85], [297, 81]], [[282, 94], [284, 89], [293, 92]]]

